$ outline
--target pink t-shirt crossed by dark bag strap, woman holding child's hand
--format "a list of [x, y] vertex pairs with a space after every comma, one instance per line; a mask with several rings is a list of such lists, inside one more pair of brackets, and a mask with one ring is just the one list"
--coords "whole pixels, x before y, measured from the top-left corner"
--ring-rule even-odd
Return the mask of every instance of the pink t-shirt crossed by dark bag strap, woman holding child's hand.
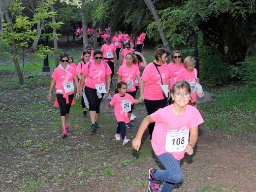
[[[158, 69], [161, 73], [163, 85], [166, 84], [166, 81], [169, 77], [169, 68], [166, 63], [158, 66]], [[145, 81], [144, 86], [144, 98], [148, 100], [160, 100], [163, 99], [162, 89], [159, 84], [161, 84], [160, 74], [153, 64], [153, 62], [149, 63], [141, 76], [141, 79]]]

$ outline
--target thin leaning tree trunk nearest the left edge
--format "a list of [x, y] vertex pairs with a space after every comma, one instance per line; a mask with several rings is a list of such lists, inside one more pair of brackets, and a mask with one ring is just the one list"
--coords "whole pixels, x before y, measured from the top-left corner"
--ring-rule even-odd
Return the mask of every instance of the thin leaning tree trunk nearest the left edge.
[[[4, 10], [5, 19], [6, 19], [6, 22], [8, 24], [8, 28], [9, 28], [10, 34], [13, 34], [14, 31], [12, 29], [12, 23], [11, 23], [11, 20], [10, 20], [10, 17], [9, 17], [9, 13], [8, 13], [8, 5], [5, 4], [4, 6], [2, 6], [2, 8]], [[19, 62], [18, 62], [18, 59], [17, 59], [16, 39], [15, 39], [14, 36], [12, 36], [11, 47], [12, 47], [12, 56], [13, 56], [12, 61], [13, 61], [14, 65], [15, 65], [15, 67], [16, 67], [20, 84], [24, 85], [25, 81], [23, 79], [21, 68], [20, 68], [20, 65], [19, 65]]]

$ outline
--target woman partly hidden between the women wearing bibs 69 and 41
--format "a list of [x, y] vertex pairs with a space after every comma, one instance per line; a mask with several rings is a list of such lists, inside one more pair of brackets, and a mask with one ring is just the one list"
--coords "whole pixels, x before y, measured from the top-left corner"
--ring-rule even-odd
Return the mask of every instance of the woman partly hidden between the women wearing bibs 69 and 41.
[[[80, 86], [80, 80], [82, 78], [82, 69], [84, 68], [85, 64], [87, 64], [88, 62], [90, 62], [90, 58], [91, 58], [91, 51], [90, 50], [84, 50], [83, 54], [82, 54], [83, 58], [82, 58], [82, 61], [77, 64], [77, 67], [76, 67], [76, 71], [77, 71], [77, 77], [79, 79], [79, 86]], [[84, 86], [85, 87], [85, 86]], [[83, 87], [83, 89], [84, 89]], [[84, 101], [84, 97], [83, 95], [82, 96], [82, 100], [81, 100], [81, 104], [82, 104], [82, 107], [83, 107], [83, 110], [84, 110], [84, 113], [82, 115], [83, 118], [86, 118], [87, 116], [87, 112], [86, 112], [86, 105], [85, 105], [85, 101]]]

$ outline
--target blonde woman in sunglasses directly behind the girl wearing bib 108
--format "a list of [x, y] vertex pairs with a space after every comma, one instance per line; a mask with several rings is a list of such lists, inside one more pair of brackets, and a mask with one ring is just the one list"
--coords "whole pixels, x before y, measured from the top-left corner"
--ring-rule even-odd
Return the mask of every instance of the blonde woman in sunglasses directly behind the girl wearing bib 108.
[[[194, 68], [195, 66], [195, 60], [192, 56], [188, 56], [184, 60], [184, 67], [178, 72], [176, 81], [179, 80], [185, 80], [190, 84], [191, 88], [191, 102], [193, 105], [195, 105], [196, 101], [196, 93], [195, 93], [195, 84], [199, 83], [199, 79], [196, 78], [197, 76], [197, 70]], [[195, 76], [196, 74], [196, 76]]]

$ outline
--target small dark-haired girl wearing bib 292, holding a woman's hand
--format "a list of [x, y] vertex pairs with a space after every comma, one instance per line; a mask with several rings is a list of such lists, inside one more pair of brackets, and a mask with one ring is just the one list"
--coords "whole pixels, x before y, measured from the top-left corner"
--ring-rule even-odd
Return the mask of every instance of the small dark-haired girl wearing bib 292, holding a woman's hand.
[[132, 96], [126, 93], [127, 84], [124, 81], [117, 83], [115, 95], [112, 97], [110, 103], [107, 106], [107, 111], [110, 110], [110, 106], [115, 105], [114, 112], [116, 120], [118, 122], [117, 131], [115, 134], [116, 140], [120, 140], [120, 133], [123, 139], [123, 145], [127, 144], [130, 140], [126, 136], [126, 124], [128, 124], [128, 111], [131, 108], [131, 104], [139, 103], [138, 99], [134, 99]]

